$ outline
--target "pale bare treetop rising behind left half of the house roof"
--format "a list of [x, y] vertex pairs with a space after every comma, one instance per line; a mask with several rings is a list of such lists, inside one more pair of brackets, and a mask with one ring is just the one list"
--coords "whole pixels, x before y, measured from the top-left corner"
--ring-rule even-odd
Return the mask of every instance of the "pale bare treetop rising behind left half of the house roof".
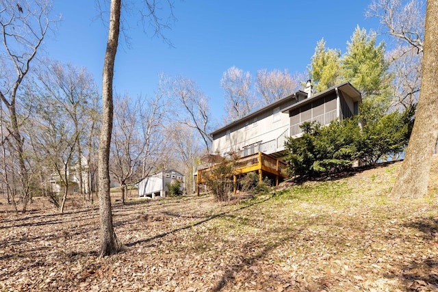
[[227, 111], [225, 122], [243, 118], [259, 107], [259, 102], [251, 88], [252, 83], [250, 73], [235, 66], [224, 72], [220, 85], [225, 96], [225, 111]]

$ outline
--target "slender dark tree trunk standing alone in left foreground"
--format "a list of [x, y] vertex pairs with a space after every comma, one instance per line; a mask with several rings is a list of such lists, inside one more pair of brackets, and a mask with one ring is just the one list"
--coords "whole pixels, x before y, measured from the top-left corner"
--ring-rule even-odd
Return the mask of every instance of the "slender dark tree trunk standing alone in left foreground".
[[103, 64], [102, 99], [103, 114], [99, 140], [99, 213], [101, 218], [101, 256], [116, 254], [125, 249], [112, 224], [110, 196], [110, 143], [113, 118], [112, 81], [114, 60], [118, 46], [120, 26], [120, 0], [111, 1], [110, 28], [108, 30], [107, 49]]

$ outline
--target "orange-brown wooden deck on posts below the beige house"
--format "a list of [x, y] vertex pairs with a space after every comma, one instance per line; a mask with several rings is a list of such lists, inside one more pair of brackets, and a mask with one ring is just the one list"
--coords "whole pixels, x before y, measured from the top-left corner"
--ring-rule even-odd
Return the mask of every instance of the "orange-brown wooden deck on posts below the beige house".
[[[196, 180], [197, 194], [199, 195], [200, 185], [204, 183], [203, 176], [207, 175], [209, 170], [214, 168], [214, 165], [208, 168], [198, 169], [198, 176]], [[252, 155], [241, 157], [237, 160], [237, 165], [233, 173], [233, 181], [237, 181], [237, 176], [247, 174], [248, 172], [257, 172], [259, 174], [259, 181], [263, 180], [264, 176], [274, 176], [276, 185], [279, 184], [280, 178], [287, 178], [286, 174], [287, 164], [280, 159], [276, 159], [263, 152], [257, 152]], [[234, 193], [237, 191], [236, 183], [234, 183]]]

